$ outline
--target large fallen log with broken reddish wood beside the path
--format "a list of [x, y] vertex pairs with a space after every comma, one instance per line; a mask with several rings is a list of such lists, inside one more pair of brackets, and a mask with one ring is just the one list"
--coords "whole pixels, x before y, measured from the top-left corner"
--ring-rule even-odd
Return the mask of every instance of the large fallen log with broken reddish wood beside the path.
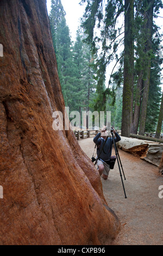
[[121, 141], [117, 143], [117, 147], [159, 167], [163, 152], [163, 144], [161, 143], [149, 143], [141, 139], [121, 136]]

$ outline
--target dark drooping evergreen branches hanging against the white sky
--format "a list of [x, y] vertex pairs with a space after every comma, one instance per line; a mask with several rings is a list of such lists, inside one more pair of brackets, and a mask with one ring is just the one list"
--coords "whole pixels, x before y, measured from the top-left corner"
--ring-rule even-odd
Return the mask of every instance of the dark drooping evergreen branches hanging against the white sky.
[[[87, 34], [85, 41], [91, 44], [91, 51], [96, 55], [97, 68], [97, 96], [93, 107], [100, 111], [105, 110], [109, 96], [115, 97], [114, 89], [110, 87], [111, 80], [108, 88], [105, 87], [105, 74], [106, 66], [112, 59], [115, 58], [118, 63], [122, 58], [123, 53], [118, 56], [117, 50], [122, 41], [123, 25], [117, 28], [116, 22], [123, 13], [124, 7], [123, 1], [117, 0], [108, 0], [107, 3], [102, 0], [83, 0], [81, 3], [85, 2], [87, 2], [87, 6], [82, 27]], [[99, 33], [95, 33], [97, 28], [100, 29]], [[112, 72], [111, 77], [115, 79], [116, 75]], [[120, 86], [120, 83], [117, 84]]]

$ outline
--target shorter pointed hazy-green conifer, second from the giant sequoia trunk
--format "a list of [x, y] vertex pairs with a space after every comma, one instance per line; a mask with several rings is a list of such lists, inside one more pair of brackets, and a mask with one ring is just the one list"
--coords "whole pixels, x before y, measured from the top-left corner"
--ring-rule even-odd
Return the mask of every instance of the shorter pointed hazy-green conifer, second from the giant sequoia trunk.
[[73, 47], [74, 64], [74, 97], [79, 106], [79, 112], [89, 111], [90, 103], [95, 94], [96, 81], [93, 57], [90, 46], [83, 42], [84, 34], [80, 29], [77, 31], [76, 41]]

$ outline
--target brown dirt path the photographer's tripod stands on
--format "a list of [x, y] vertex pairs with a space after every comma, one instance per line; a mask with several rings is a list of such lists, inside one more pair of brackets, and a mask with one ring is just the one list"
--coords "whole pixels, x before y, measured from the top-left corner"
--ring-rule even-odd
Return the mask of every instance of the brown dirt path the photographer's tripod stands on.
[[[80, 139], [80, 147], [91, 159], [95, 144], [93, 138]], [[103, 193], [121, 222], [121, 231], [114, 245], [163, 245], [163, 198], [159, 198], [159, 186], [163, 175], [158, 167], [139, 157], [118, 149], [122, 167], [124, 191], [117, 161], [110, 170], [108, 180], [101, 178]], [[115, 155], [114, 147], [112, 155]]]

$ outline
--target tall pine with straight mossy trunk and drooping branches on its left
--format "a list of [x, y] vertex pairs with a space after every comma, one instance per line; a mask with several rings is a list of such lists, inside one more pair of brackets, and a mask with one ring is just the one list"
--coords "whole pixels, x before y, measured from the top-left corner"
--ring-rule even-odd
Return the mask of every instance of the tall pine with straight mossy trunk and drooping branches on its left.
[[[82, 1], [86, 2], [86, 1]], [[92, 0], [87, 1], [85, 21], [83, 27], [88, 34], [86, 41], [92, 44], [92, 52], [97, 53], [98, 47], [102, 53], [97, 58], [97, 98], [95, 109], [105, 110], [107, 95], [114, 96], [114, 90], [109, 87], [105, 88], [106, 65], [110, 63], [115, 56], [116, 64], [122, 59], [123, 54], [118, 56], [117, 49], [122, 38], [122, 27], [117, 28], [116, 22], [118, 17], [124, 12], [125, 16], [125, 39], [124, 39], [124, 89], [123, 89], [123, 116], [122, 116], [122, 133], [123, 136], [129, 136], [131, 123], [131, 103], [133, 99], [133, 74], [134, 74], [134, 1], [109, 1], [105, 5], [104, 1]], [[102, 26], [101, 26], [102, 24]], [[95, 27], [101, 28], [101, 37], [95, 36]], [[101, 44], [101, 45], [99, 45]], [[97, 55], [98, 56], [98, 55]], [[130, 62], [130, 64], [129, 64]], [[114, 69], [113, 69], [114, 70]], [[111, 72], [112, 74], [112, 72]]]

